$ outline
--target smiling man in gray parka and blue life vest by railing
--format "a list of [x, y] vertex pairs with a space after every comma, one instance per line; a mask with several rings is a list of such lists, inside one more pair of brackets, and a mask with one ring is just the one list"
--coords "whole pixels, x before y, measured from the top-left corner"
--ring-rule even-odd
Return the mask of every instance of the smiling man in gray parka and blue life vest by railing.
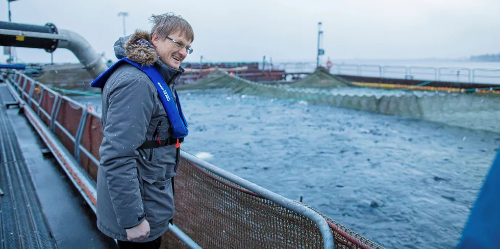
[[103, 89], [97, 227], [120, 249], [160, 247], [188, 133], [175, 85], [192, 52], [192, 27], [173, 14], [150, 20], [151, 33], [136, 31], [115, 43], [120, 60], [91, 83]]

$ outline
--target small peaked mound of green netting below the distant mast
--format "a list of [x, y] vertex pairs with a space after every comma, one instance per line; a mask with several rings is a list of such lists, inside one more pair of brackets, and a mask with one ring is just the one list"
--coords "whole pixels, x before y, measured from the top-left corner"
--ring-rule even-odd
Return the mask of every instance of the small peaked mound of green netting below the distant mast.
[[292, 82], [291, 84], [288, 84], [288, 86], [297, 88], [325, 88], [325, 89], [338, 88], [338, 87], [359, 87], [345, 79], [330, 74], [328, 71], [322, 68], [316, 69], [316, 71], [309, 74], [307, 77]]

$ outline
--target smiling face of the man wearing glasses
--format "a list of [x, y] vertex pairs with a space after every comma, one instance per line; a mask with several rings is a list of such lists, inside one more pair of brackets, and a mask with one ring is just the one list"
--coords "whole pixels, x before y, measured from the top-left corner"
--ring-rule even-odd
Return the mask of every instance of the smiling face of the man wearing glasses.
[[186, 59], [188, 52], [184, 46], [191, 47], [191, 42], [182, 35], [182, 32], [178, 31], [168, 36], [176, 42], [165, 37], [158, 37], [156, 33], [152, 37], [153, 45], [160, 60], [174, 69], [179, 69], [181, 63]]

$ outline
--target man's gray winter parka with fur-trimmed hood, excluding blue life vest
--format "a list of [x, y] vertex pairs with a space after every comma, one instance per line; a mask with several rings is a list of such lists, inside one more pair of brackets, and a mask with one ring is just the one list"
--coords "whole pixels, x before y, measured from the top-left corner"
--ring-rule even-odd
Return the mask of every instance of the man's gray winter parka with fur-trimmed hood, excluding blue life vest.
[[[118, 59], [126, 57], [158, 67], [172, 92], [184, 72], [158, 59], [147, 32], [120, 38], [114, 47]], [[179, 163], [179, 148], [138, 149], [145, 141], [166, 140], [172, 133], [157, 90], [140, 69], [127, 63], [115, 69], [106, 81], [102, 101], [97, 227], [111, 238], [127, 241], [125, 229], [146, 219], [149, 237], [138, 242], [152, 241], [168, 230], [173, 217], [172, 177]]]

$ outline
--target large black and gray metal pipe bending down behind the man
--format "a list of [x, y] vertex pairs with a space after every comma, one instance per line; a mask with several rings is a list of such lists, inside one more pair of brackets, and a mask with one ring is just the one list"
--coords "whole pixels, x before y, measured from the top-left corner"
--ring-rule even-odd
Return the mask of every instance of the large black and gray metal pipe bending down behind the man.
[[108, 68], [101, 54], [83, 36], [58, 30], [52, 23], [41, 26], [0, 21], [0, 46], [43, 48], [47, 52], [67, 48], [94, 78]]

